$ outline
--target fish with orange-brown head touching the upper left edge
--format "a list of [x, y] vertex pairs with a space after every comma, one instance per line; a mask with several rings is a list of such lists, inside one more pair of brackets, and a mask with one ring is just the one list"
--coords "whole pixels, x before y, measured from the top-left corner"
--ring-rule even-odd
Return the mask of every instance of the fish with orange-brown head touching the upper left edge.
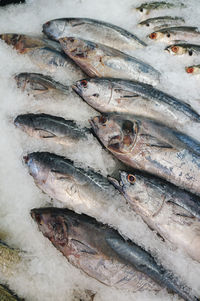
[[62, 67], [71, 72], [71, 75], [80, 77], [83, 73], [61, 51], [60, 45], [42, 37], [23, 34], [1, 34], [0, 39], [13, 46], [20, 54], [27, 54], [31, 61], [41, 69], [54, 71]]

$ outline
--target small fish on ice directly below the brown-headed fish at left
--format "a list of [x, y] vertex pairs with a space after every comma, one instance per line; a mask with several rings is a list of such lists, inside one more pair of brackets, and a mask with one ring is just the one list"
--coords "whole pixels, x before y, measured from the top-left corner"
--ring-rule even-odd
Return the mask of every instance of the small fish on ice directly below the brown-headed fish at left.
[[40, 73], [19, 73], [14, 77], [17, 87], [35, 99], [59, 98], [70, 94], [70, 87]]

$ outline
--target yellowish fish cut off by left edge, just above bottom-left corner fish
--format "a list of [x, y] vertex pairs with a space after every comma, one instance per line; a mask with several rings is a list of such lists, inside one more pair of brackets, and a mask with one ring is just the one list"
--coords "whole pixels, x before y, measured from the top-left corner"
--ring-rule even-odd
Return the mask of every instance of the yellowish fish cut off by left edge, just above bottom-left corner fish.
[[0, 269], [4, 275], [13, 273], [14, 268], [21, 261], [21, 252], [19, 249], [14, 249], [0, 240]]

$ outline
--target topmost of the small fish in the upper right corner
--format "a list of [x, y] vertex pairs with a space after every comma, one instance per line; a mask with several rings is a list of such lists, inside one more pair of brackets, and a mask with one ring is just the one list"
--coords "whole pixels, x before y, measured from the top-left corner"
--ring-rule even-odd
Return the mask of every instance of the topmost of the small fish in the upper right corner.
[[176, 7], [184, 8], [183, 3], [170, 3], [166, 1], [152, 1], [142, 3], [140, 6], [136, 7], [136, 10], [144, 15], [148, 15], [151, 11], [160, 10], [160, 9], [173, 9]]

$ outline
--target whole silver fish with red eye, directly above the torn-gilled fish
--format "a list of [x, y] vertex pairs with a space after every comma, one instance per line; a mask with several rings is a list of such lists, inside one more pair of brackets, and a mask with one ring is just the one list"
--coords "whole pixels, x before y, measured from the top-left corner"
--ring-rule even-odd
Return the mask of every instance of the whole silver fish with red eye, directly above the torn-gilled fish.
[[200, 116], [181, 100], [151, 85], [112, 78], [77, 81], [72, 88], [94, 109], [145, 116], [183, 130], [185, 123], [199, 123]]

